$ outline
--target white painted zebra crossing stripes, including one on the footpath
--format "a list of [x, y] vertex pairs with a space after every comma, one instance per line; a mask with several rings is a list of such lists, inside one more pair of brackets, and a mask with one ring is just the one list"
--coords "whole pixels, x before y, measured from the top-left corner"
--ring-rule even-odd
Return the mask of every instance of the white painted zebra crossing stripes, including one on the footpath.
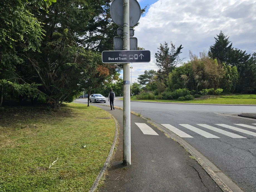
[[[142, 131], [143, 134], [158, 136], [158, 134], [151, 127], [149, 127], [146, 123], [135, 123], [135, 124], [139, 127], [139, 129]], [[181, 131], [180, 129], [178, 129], [177, 127], [174, 127], [173, 125], [170, 125], [170, 124], [161, 124], [161, 125], [163, 125], [166, 129], [172, 131], [173, 133], [175, 133], [179, 137], [194, 138], [193, 136], [187, 134], [184, 131]], [[186, 129], [189, 129], [190, 131], [193, 131], [193, 132], [195, 132], [195, 133], [197, 133], [197, 134], [199, 134], [203, 137], [206, 137], [206, 138], [220, 138], [218, 136], [215, 136], [214, 134], [211, 134], [207, 131], [204, 131], [204, 130], [198, 128], [198, 127], [195, 127], [195, 126], [192, 126], [192, 125], [189, 125], [189, 124], [179, 124], [179, 125], [182, 126], [182, 127], [185, 127]], [[236, 127], [231, 126], [231, 125], [226, 125], [226, 124], [215, 124], [219, 127], [224, 127], [224, 128], [227, 128], [227, 129], [231, 129], [233, 131], [237, 131], [238, 134], [235, 134], [235, 133], [232, 133], [232, 132], [229, 132], [229, 131], [225, 131], [223, 129], [219, 129], [219, 128], [217, 128], [217, 126], [215, 127], [215, 126], [211, 126], [211, 125], [207, 125], [207, 124], [196, 124], [196, 125], [198, 125], [199, 127], [204, 127], [204, 128], [209, 129], [211, 131], [220, 133], [222, 135], [231, 137], [231, 138], [247, 138], [247, 137], [239, 135], [239, 132], [256, 137], [256, 132], [253, 132], [253, 131], [256, 131], [256, 126], [252, 126], [252, 125], [256, 125], [256, 124], [252, 124], [252, 125], [234, 124]], [[246, 128], [252, 129], [252, 131], [248, 131], [246, 129], [241, 129], [239, 127], [246, 127]]]

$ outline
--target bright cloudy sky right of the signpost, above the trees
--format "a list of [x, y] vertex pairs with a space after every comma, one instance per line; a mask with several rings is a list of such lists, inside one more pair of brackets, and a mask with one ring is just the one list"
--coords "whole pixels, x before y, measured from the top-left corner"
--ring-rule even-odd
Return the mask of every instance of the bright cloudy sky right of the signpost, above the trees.
[[[139, 0], [149, 5], [135, 28], [138, 46], [151, 51], [150, 63], [131, 63], [132, 82], [145, 70], [157, 70], [154, 55], [160, 43], [182, 44], [184, 61], [189, 50], [208, 51], [216, 34], [230, 36], [233, 47], [256, 52], [256, 0]], [[121, 72], [120, 77], [123, 77]]]

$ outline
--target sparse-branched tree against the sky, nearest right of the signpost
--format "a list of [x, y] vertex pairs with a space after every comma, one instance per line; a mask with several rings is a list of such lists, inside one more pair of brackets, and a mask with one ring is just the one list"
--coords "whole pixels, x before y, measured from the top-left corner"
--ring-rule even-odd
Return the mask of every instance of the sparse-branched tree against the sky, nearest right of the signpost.
[[164, 42], [164, 44], [160, 44], [160, 48], [158, 49], [159, 51], [155, 54], [156, 65], [159, 68], [157, 77], [160, 81], [163, 81], [166, 84], [168, 74], [184, 59], [179, 58], [183, 47], [180, 45], [176, 48], [171, 42], [170, 49], [168, 43]]

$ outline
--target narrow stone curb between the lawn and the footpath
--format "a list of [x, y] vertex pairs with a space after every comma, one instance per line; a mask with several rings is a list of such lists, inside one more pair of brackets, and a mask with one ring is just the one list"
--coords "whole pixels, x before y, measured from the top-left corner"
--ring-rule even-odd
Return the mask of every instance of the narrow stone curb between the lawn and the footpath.
[[111, 159], [111, 157], [113, 155], [113, 152], [114, 152], [115, 144], [116, 144], [116, 141], [117, 141], [117, 131], [118, 131], [118, 129], [117, 129], [117, 121], [116, 121], [115, 117], [113, 115], [111, 115], [111, 116], [115, 120], [115, 137], [114, 137], [114, 141], [113, 141], [112, 147], [111, 147], [111, 149], [109, 151], [109, 155], [108, 155], [108, 157], [107, 157], [107, 159], [106, 159], [102, 169], [100, 170], [100, 173], [98, 174], [98, 176], [96, 177], [95, 181], [93, 182], [92, 187], [90, 188], [89, 192], [94, 192], [97, 189], [99, 181], [102, 178], [103, 174], [105, 173], [107, 167], [109, 166], [110, 159]]

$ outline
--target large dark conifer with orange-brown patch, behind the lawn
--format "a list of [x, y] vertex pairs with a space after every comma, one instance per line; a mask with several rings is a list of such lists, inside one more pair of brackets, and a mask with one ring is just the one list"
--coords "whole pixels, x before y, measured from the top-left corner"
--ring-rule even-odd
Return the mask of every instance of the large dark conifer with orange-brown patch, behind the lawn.
[[[63, 0], [51, 5], [49, 13], [41, 11], [38, 18], [45, 23], [46, 36], [40, 52], [23, 53], [26, 82], [37, 82], [56, 109], [66, 98], [87, 87], [95, 87], [116, 73], [114, 64], [102, 64], [100, 49], [107, 49], [110, 1]], [[68, 9], [67, 9], [68, 7]], [[89, 93], [90, 94], [90, 93]]]

